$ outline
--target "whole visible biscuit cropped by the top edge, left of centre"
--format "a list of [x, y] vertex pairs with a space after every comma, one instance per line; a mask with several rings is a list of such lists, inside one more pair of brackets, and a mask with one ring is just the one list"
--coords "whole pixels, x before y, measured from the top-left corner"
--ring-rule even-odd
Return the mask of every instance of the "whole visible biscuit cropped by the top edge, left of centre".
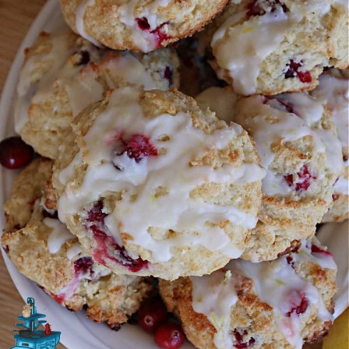
[[228, 0], [61, 0], [66, 22], [95, 45], [150, 52], [191, 36]]

